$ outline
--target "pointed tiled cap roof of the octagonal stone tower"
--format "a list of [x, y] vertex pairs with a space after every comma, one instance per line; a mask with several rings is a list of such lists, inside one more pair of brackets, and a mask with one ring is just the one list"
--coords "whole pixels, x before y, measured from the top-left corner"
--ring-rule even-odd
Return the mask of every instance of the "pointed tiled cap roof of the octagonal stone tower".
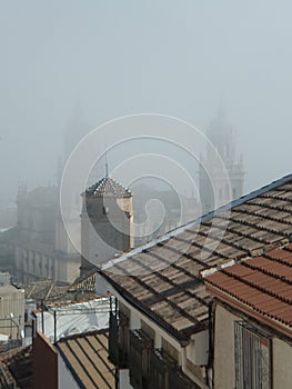
[[85, 190], [88, 197], [132, 197], [132, 192], [110, 177], [104, 177]]

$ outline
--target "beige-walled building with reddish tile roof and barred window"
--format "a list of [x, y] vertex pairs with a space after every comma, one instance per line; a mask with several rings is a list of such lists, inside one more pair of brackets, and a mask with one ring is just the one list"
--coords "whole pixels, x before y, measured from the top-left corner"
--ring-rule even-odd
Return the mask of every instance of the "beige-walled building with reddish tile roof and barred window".
[[208, 270], [207, 290], [215, 298], [214, 388], [291, 388], [291, 265], [292, 246], [285, 245]]

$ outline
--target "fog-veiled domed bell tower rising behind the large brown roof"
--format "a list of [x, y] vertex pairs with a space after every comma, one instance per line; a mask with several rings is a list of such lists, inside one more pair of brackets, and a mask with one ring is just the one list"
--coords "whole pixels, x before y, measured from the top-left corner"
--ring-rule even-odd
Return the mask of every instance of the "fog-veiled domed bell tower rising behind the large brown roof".
[[[214, 194], [219, 200], [219, 206], [228, 202], [229, 199], [236, 199], [243, 193], [243, 159], [242, 154], [238, 156], [235, 147], [235, 131], [222, 108], [219, 109], [217, 118], [208, 128], [207, 136], [213, 143], [213, 147], [221, 156], [230, 179], [231, 193], [223, 180], [222, 171], [219, 164], [214, 163], [211, 158], [211, 149], [207, 147], [205, 158], [201, 157], [201, 166], [199, 169], [200, 197], [202, 203], [202, 213], [205, 215], [214, 209]], [[212, 171], [217, 182], [210, 181], [207, 171]], [[217, 193], [214, 193], [214, 190]]]

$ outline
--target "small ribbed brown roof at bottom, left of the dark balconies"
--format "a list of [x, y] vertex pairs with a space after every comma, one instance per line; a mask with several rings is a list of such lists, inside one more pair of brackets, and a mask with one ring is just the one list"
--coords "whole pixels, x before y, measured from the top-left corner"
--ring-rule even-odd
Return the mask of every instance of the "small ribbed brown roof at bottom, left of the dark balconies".
[[95, 331], [60, 340], [56, 347], [80, 388], [115, 387], [115, 368], [109, 361], [108, 332]]

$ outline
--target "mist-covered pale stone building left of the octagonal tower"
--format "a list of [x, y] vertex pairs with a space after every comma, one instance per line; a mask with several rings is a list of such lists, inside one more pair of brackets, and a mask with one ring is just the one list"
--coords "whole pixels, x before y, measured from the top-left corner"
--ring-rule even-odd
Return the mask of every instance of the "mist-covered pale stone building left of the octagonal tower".
[[16, 276], [23, 283], [72, 282], [79, 276], [80, 255], [64, 230], [58, 200], [57, 186], [19, 191], [12, 243]]

